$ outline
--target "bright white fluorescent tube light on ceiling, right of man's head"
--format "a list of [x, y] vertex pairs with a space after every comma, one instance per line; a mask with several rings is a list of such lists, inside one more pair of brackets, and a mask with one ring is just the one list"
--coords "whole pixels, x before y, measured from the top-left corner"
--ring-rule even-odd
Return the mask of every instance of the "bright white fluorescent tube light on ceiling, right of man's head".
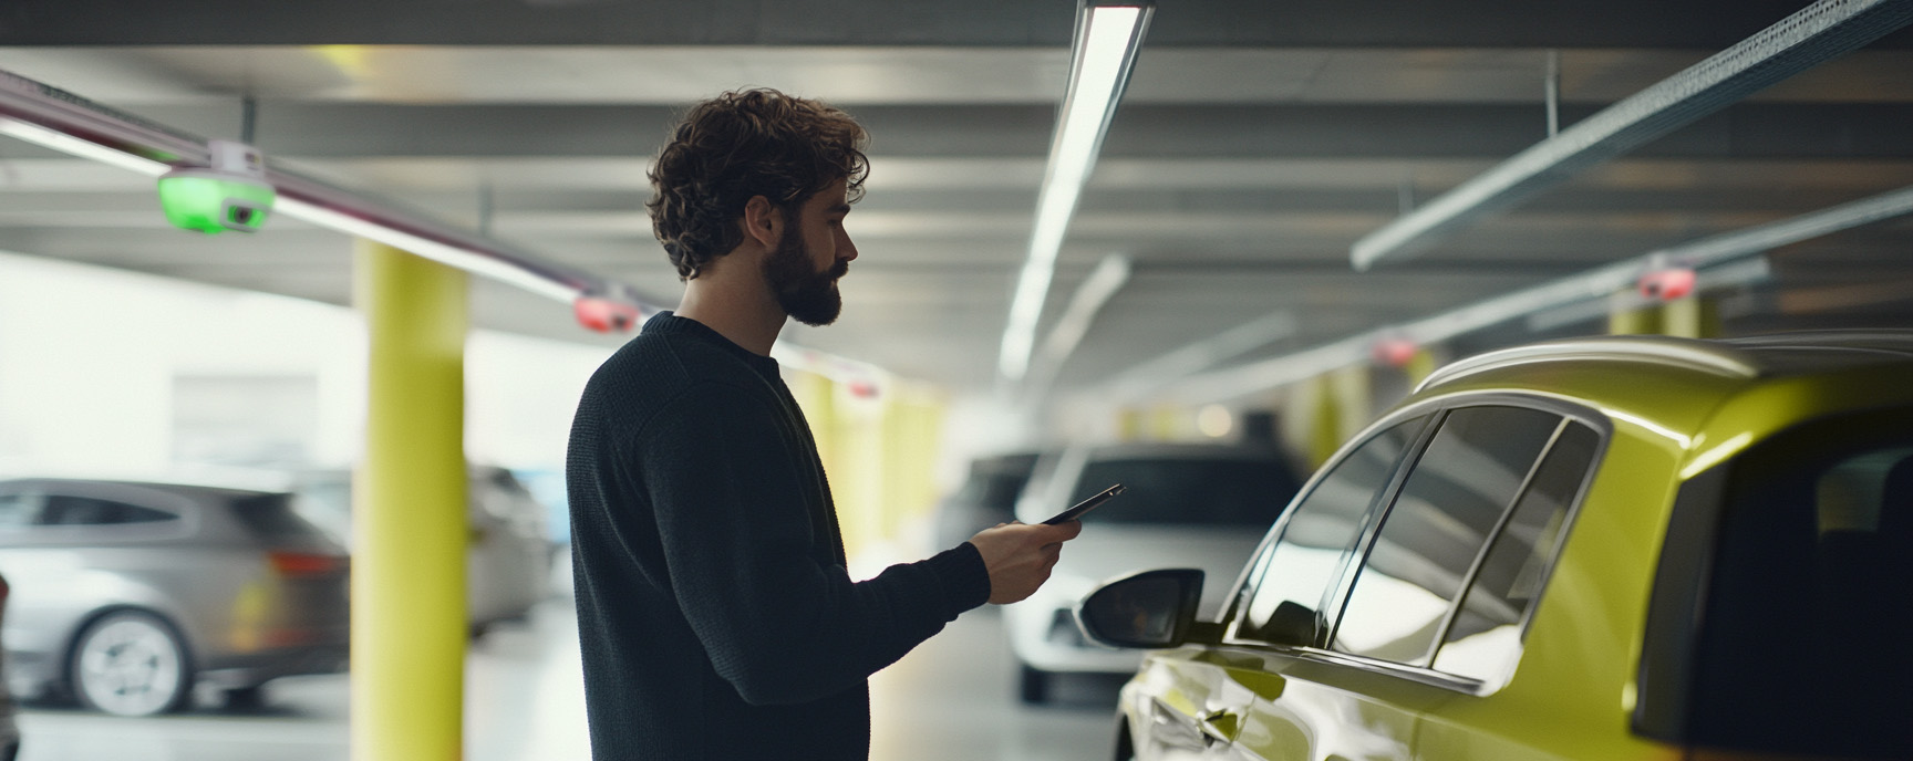
[[1083, 6], [1079, 13], [1069, 88], [1050, 143], [1043, 189], [1037, 193], [1029, 258], [1016, 279], [1010, 323], [1002, 331], [1002, 352], [997, 358], [997, 371], [1008, 380], [1022, 380], [1029, 371], [1037, 319], [1043, 317], [1043, 302], [1056, 275], [1056, 250], [1064, 245], [1083, 184], [1096, 166], [1096, 151], [1129, 82], [1152, 10], [1148, 4]]

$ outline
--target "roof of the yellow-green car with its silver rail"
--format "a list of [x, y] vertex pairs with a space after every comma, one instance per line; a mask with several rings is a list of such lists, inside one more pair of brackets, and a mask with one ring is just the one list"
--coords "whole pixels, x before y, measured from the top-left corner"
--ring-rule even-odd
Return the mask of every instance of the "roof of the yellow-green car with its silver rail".
[[1913, 331], [1802, 331], [1743, 338], [1595, 337], [1546, 340], [1448, 363], [1416, 388], [1435, 390], [1483, 373], [1532, 373], [1561, 382], [1561, 363], [1588, 371], [1655, 367], [1697, 382], [1739, 386], [1758, 379], [1827, 375], [1873, 365], [1913, 365]]

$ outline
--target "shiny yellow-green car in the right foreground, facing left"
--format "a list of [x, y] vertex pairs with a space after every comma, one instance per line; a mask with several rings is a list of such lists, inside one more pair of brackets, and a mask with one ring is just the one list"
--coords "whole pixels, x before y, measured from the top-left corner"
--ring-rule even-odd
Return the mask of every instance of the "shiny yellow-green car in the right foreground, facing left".
[[1201, 583], [1077, 608], [1119, 759], [1913, 757], [1913, 331], [1456, 361]]

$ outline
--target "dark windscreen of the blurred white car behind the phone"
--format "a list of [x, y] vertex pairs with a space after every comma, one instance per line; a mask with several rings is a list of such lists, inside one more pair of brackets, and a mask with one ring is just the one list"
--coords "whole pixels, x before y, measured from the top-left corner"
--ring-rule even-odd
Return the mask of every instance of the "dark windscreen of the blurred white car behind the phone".
[[1266, 530], [1295, 497], [1295, 476], [1280, 461], [1110, 459], [1083, 467], [1069, 503], [1123, 484], [1127, 489], [1085, 524], [1253, 526]]

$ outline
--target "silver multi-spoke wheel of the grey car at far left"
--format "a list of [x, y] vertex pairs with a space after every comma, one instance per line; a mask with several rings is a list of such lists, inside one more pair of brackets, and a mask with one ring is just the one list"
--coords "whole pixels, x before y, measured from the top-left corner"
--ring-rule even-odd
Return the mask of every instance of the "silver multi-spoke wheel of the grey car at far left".
[[157, 616], [122, 610], [86, 627], [73, 646], [73, 692], [113, 715], [178, 709], [191, 696], [186, 642]]

